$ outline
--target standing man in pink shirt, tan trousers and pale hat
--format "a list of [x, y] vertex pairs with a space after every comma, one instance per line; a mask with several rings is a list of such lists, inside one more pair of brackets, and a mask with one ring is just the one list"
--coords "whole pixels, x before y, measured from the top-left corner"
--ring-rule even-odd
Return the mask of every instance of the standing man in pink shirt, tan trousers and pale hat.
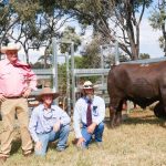
[[0, 50], [7, 55], [7, 59], [0, 61], [0, 110], [3, 125], [0, 163], [10, 156], [15, 114], [21, 129], [22, 153], [24, 156], [32, 153], [27, 98], [31, 91], [35, 90], [37, 76], [30, 65], [19, 61], [19, 50], [20, 46], [15, 43], [9, 43]]

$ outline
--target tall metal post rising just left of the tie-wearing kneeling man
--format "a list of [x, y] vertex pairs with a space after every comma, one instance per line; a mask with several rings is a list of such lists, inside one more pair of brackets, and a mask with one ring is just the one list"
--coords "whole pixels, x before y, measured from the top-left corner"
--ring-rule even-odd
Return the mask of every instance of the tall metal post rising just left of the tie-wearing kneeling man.
[[74, 43], [71, 43], [72, 104], [75, 105]]

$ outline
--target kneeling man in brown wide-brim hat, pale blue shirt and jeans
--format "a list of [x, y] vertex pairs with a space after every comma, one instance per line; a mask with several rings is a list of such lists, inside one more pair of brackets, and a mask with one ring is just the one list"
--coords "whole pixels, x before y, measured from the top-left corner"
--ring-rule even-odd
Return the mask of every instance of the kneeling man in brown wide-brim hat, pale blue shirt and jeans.
[[58, 93], [44, 87], [39, 95], [41, 104], [33, 110], [30, 118], [29, 131], [35, 143], [35, 154], [40, 156], [45, 155], [49, 142], [59, 139], [59, 152], [66, 147], [71, 118], [62, 108], [53, 105], [56, 96]]

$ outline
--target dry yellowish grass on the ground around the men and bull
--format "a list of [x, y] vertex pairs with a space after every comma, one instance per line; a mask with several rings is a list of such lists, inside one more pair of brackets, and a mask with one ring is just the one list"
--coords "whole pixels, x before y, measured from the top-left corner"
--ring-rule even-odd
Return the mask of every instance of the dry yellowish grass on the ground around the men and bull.
[[[18, 131], [17, 131], [18, 135]], [[69, 148], [63, 153], [49, 148], [44, 158], [21, 155], [20, 138], [13, 144], [7, 166], [166, 166], [166, 124], [151, 111], [132, 112], [125, 122], [114, 129], [105, 125], [104, 145], [95, 143], [87, 151], [79, 151], [72, 145], [71, 132]]]

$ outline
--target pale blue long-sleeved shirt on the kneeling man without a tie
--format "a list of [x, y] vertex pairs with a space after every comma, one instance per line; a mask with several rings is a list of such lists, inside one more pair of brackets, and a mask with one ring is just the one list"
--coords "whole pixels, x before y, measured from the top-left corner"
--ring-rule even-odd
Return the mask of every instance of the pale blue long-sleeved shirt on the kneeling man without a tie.
[[51, 132], [58, 121], [64, 126], [70, 124], [71, 118], [66, 112], [56, 105], [51, 105], [48, 111], [44, 110], [43, 104], [34, 107], [29, 123], [29, 131], [33, 141], [39, 142], [38, 134]]

